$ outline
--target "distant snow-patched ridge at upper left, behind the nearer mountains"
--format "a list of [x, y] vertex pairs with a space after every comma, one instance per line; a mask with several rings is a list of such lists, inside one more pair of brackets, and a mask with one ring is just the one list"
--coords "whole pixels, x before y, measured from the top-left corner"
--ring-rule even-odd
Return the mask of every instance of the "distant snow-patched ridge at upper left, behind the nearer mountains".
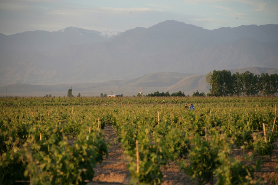
[[0, 34], [0, 48], [26, 52], [29, 50], [49, 51], [66, 44], [82, 45], [94, 44], [113, 39], [122, 32], [94, 31], [83, 28], [67, 27], [59, 31], [25, 31], [22, 33]]

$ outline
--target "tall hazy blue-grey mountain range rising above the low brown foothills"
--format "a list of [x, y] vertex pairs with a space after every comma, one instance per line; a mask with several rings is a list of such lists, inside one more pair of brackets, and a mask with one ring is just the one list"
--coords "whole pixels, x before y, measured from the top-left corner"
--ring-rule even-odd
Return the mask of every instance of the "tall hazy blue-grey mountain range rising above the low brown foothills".
[[[277, 33], [275, 24], [205, 30], [168, 20], [124, 33], [69, 27], [56, 32], [0, 34], [0, 86], [89, 84], [158, 72], [182, 73], [183, 78], [188, 78], [214, 69], [246, 67], [275, 68], [272, 69], [275, 71], [278, 69]], [[188, 79], [185, 83], [179, 82], [182, 79], [171, 83], [167, 78], [164, 80], [150, 84], [160, 84], [160, 89], [166, 91], [189, 83]], [[174, 88], [174, 82], [179, 82], [179, 87]], [[207, 88], [207, 84], [200, 86]], [[191, 91], [195, 87], [189, 88]]]

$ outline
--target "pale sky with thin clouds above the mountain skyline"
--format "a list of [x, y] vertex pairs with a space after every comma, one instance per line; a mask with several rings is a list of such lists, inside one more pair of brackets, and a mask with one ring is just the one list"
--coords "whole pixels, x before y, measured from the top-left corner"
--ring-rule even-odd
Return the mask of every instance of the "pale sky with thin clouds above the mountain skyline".
[[204, 29], [278, 24], [278, 0], [0, 0], [0, 33], [149, 28], [175, 20]]

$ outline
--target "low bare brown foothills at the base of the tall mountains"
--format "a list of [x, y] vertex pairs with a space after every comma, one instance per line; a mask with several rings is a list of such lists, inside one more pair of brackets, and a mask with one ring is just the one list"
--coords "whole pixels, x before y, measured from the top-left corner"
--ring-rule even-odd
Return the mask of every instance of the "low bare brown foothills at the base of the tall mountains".
[[[244, 73], [249, 71], [253, 74], [278, 73], [278, 69], [273, 68], [241, 68], [229, 70], [231, 73]], [[137, 78], [126, 80], [110, 80], [102, 83], [71, 83], [56, 85], [31, 85], [31, 84], [11, 84], [0, 87], [0, 96], [67, 96], [67, 90], [72, 87], [74, 95], [81, 92], [81, 96], [100, 96], [100, 93], [109, 94], [111, 91], [124, 96], [137, 95], [139, 88], [143, 86], [143, 94], [159, 92], [185, 92], [185, 95], [192, 95], [193, 92], [209, 92], [209, 85], [205, 82], [206, 74], [198, 75], [192, 73], [150, 73]]]

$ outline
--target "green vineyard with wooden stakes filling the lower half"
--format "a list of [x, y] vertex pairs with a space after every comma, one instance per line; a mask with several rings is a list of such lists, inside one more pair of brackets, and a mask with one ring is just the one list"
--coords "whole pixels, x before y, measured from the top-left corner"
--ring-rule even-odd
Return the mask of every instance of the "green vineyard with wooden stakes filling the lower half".
[[277, 102], [1, 97], [0, 184], [277, 184]]

